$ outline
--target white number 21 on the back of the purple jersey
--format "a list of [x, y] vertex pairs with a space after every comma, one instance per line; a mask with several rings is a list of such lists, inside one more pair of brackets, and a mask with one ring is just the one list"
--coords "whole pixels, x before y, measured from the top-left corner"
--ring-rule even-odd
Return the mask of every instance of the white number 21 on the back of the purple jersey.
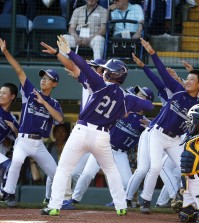
[[104, 108], [110, 106], [109, 110], [104, 114], [105, 118], [110, 118], [110, 113], [113, 110], [116, 104], [116, 101], [111, 101], [111, 99], [108, 96], [104, 96], [103, 99], [104, 99], [104, 102], [100, 102], [97, 108], [95, 109], [95, 111], [99, 114], [102, 114], [104, 111]]

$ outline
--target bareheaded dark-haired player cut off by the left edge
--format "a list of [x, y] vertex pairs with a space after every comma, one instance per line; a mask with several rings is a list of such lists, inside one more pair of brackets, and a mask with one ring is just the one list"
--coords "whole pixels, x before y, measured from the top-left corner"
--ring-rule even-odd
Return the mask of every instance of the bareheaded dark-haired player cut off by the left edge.
[[0, 88], [0, 170], [2, 171], [2, 187], [5, 185], [6, 173], [11, 163], [11, 160], [6, 157], [6, 153], [17, 137], [19, 129], [15, 116], [10, 112], [17, 93], [17, 86], [12, 83], [4, 83]]

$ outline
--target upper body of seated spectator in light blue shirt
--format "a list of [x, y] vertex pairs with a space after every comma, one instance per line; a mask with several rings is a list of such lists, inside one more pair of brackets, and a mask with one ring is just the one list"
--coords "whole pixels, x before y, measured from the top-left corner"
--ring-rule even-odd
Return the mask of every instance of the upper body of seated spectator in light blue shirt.
[[116, 0], [114, 4], [109, 7], [111, 11], [111, 20], [115, 19], [130, 19], [139, 21], [138, 24], [132, 23], [116, 23], [113, 30], [114, 37], [133, 38], [141, 37], [144, 12], [140, 5], [130, 4], [129, 0]]

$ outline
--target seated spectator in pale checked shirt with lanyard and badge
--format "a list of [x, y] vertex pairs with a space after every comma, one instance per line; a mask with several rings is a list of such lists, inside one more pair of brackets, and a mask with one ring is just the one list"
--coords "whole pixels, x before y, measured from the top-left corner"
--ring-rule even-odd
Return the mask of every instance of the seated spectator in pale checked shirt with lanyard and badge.
[[104, 35], [108, 10], [98, 5], [97, 0], [87, 0], [87, 4], [74, 10], [69, 34], [64, 38], [71, 48], [77, 46], [90, 47], [94, 59], [101, 59], [104, 52]]

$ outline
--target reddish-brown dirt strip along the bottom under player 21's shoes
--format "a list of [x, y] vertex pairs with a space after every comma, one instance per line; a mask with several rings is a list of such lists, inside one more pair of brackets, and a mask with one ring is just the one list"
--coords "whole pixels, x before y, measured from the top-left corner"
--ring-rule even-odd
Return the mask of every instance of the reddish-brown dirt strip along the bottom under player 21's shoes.
[[60, 216], [40, 215], [39, 209], [0, 209], [0, 223], [172, 223], [179, 222], [176, 214], [128, 212], [126, 216], [117, 216], [115, 211], [70, 210], [61, 211]]

